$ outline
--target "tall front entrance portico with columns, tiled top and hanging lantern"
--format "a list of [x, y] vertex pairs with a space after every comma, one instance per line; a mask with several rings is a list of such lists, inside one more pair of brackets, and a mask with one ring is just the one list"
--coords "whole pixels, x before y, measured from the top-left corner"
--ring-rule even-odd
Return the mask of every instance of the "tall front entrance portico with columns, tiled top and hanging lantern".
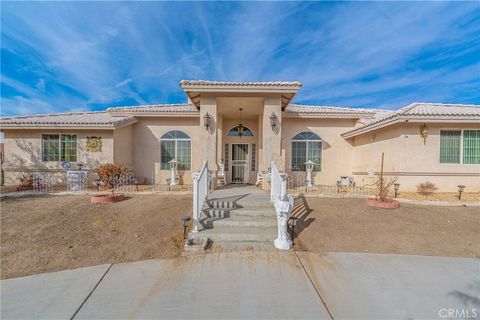
[[[213, 177], [220, 164], [225, 166], [227, 183], [253, 184], [257, 172], [267, 172], [272, 161], [285, 170], [282, 110], [297, 93], [300, 83], [182, 81], [180, 86], [200, 111], [204, 130], [198, 156], [202, 163], [208, 161]], [[252, 136], [228, 135], [240, 121], [251, 129]]]

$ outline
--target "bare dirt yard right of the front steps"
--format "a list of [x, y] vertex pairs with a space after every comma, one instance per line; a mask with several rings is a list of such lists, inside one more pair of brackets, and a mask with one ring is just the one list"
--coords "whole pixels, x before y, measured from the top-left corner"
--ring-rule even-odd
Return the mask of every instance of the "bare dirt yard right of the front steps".
[[294, 210], [300, 250], [480, 258], [480, 207], [389, 210], [363, 199], [306, 197]]

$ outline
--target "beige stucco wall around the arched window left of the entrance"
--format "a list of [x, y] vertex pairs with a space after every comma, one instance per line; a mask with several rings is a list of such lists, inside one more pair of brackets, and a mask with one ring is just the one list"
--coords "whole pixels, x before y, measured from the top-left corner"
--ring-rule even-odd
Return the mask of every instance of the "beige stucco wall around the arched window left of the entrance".
[[[205, 144], [201, 141], [198, 117], [149, 117], [139, 118], [133, 125], [133, 169], [135, 175], [152, 183], [155, 174], [161, 184], [170, 177], [170, 170], [160, 170], [160, 137], [170, 130], [180, 130], [192, 138], [192, 171], [200, 170], [203, 160], [198, 155]], [[179, 171], [181, 183], [191, 184], [192, 171]]]

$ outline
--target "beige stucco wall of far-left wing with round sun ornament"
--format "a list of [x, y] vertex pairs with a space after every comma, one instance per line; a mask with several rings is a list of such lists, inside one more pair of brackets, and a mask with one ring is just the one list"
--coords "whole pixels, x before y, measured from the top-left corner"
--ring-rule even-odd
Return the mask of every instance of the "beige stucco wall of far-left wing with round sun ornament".
[[[63, 172], [61, 162], [42, 161], [42, 134], [76, 134], [77, 163], [84, 169], [94, 170], [100, 163], [113, 162], [113, 132], [111, 130], [3, 130], [5, 144], [5, 183], [17, 184], [22, 172], [55, 170]], [[87, 152], [87, 137], [102, 138], [101, 152]], [[76, 163], [73, 163], [75, 168]]]

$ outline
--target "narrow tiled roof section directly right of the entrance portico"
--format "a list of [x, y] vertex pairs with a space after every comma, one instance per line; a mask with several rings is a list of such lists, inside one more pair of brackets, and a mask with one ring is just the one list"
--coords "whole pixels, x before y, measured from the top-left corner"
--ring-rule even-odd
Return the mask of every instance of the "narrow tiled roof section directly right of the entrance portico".
[[375, 109], [344, 108], [332, 106], [309, 106], [289, 104], [285, 108], [284, 117], [306, 118], [371, 118], [376, 114]]

